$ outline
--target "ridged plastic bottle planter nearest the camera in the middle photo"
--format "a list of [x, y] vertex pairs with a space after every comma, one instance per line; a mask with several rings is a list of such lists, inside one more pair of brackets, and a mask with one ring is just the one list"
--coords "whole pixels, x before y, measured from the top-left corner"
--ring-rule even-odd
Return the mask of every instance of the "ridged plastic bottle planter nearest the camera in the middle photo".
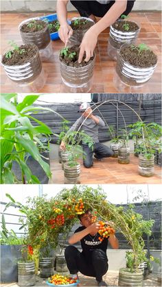
[[68, 162], [64, 164], [65, 184], [78, 184], [80, 177], [80, 164], [69, 166]]

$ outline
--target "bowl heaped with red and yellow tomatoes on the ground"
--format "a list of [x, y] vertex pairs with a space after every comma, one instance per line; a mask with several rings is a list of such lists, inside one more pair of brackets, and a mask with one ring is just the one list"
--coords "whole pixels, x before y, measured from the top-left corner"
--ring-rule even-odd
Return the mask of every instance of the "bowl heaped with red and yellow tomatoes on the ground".
[[72, 278], [70, 275], [54, 274], [47, 280], [49, 286], [77, 286], [79, 283], [78, 278]]

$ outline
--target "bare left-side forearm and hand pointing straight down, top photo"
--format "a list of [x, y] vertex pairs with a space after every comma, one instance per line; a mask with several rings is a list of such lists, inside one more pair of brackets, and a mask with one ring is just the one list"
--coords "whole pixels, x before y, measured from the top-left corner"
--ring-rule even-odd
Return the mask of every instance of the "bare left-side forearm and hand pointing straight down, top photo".
[[58, 30], [58, 34], [62, 42], [67, 45], [68, 39], [73, 34], [73, 29], [67, 23], [67, 3], [69, 0], [58, 0], [57, 1], [57, 15], [58, 21], [60, 23], [60, 29]]

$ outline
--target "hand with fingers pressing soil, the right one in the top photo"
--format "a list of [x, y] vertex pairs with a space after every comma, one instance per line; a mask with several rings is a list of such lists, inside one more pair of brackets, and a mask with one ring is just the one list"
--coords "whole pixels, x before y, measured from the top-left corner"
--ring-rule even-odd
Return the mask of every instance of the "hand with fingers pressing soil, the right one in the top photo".
[[[94, 26], [93, 26], [94, 27]], [[91, 27], [85, 34], [82, 39], [82, 42], [80, 44], [80, 54], [78, 58], [78, 62], [82, 62], [82, 58], [84, 55], [84, 52], [86, 53], [85, 62], [89, 62], [89, 59], [93, 57], [93, 52], [95, 49], [95, 46], [97, 44], [97, 35], [95, 34], [94, 28]]]

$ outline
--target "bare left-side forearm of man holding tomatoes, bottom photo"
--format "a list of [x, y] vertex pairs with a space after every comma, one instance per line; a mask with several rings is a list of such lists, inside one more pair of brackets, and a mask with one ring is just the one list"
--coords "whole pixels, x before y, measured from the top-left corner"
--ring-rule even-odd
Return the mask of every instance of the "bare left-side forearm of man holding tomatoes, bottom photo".
[[89, 227], [86, 227], [83, 229], [81, 232], [76, 232], [74, 233], [68, 240], [69, 244], [75, 244], [76, 242], [80, 241], [84, 236], [88, 234], [94, 234], [98, 232], [100, 229], [100, 224], [99, 223], [93, 223], [89, 225]]

